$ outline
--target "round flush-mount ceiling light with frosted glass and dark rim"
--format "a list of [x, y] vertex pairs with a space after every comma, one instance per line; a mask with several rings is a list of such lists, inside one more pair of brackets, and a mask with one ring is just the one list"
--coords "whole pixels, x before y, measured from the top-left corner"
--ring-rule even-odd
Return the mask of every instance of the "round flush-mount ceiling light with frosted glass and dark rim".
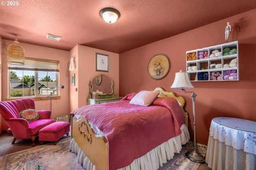
[[100, 11], [100, 16], [107, 23], [114, 23], [120, 17], [120, 12], [114, 8], [104, 8]]

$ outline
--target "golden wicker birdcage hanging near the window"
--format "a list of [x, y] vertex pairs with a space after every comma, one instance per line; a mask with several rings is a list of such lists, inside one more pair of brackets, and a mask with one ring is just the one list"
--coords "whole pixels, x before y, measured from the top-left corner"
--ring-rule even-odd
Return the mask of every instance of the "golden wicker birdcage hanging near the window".
[[10, 64], [24, 64], [24, 48], [18, 45], [19, 41], [17, 37], [13, 41], [14, 44], [10, 44], [7, 47], [7, 57]]

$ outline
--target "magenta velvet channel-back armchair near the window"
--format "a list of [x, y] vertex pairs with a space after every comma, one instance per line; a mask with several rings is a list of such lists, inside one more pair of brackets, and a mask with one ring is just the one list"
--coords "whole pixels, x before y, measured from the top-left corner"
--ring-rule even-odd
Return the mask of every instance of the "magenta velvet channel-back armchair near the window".
[[32, 139], [32, 146], [35, 146], [38, 131], [53, 123], [54, 119], [50, 119], [50, 110], [38, 110], [39, 119], [28, 122], [26, 119], [18, 117], [19, 113], [25, 109], [36, 109], [35, 101], [32, 98], [0, 102], [0, 113], [14, 137], [12, 144], [16, 139]]

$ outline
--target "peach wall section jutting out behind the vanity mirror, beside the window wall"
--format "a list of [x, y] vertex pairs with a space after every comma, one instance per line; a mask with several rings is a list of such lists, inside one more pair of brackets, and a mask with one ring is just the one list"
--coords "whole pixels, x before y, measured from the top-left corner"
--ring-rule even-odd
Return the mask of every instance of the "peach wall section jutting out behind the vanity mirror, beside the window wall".
[[[108, 55], [109, 72], [96, 71], [96, 53]], [[75, 74], [75, 86], [70, 86], [70, 111], [74, 111], [78, 107], [87, 104], [89, 81], [98, 74], [105, 74], [114, 80], [114, 92], [117, 96], [119, 95], [119, 54], [83, 45], [76, 45], [76, 47], [70, 51], [70, 59], [72, 56], [74, 56], [76, 68], [69, 73], [70, 78], [71, 74]], [[77, 88], [77, 92], [75, 88]]]

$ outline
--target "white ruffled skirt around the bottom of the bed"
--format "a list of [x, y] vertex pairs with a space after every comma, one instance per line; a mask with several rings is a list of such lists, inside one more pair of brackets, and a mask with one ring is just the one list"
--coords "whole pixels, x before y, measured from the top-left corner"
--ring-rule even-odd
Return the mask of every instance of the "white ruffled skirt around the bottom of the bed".
[[[181, 126], [182, 133], [162, 143], [158, 147], [150, 150], [145, 155], [135, 159], [130, 165], [118, 170], [158, 170], [167, 160], [173, 158], [174, 153], [180, 153], [181, 145], [184, 145], [190, 139], [188, 128], [185, 124]], [[96, 166], [90, 162], [89, 158], [84, 154], [78, 146], [74, 138], [70, 142], [71, 152], [77, 154], [78, 162], [83, 165], [86, 170], [97, 170]]]

